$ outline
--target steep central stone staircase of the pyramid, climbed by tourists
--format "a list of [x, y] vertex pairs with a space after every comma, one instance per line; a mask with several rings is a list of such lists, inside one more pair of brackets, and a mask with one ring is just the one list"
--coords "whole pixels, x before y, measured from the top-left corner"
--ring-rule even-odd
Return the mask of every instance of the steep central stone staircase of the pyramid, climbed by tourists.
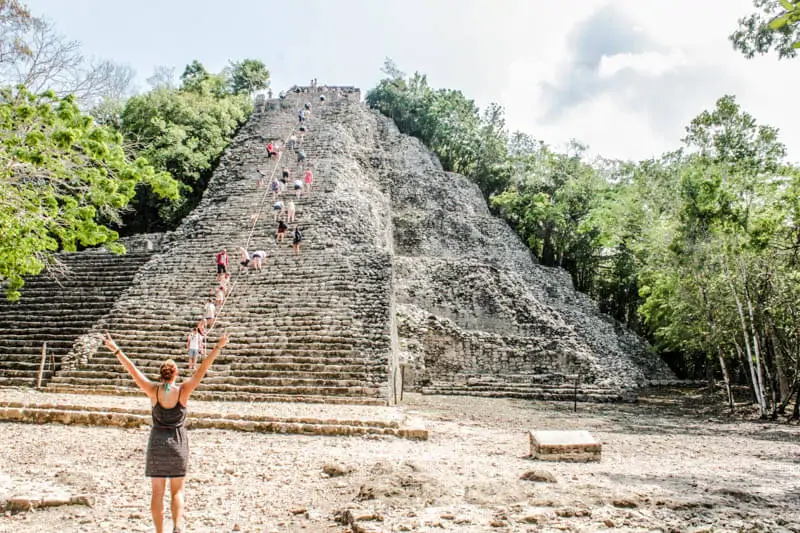
[[[238, 268], [251, 216], [267, 188], [257, 188], [257, 169], [267, 174], [268, 140], [285, 139], [296, 126], [297, 109], [307, 96], [290, 95], [278, 110], [255, 113], [223, 157], [197, 209], [172, 237], [172, 245], [153, 257], [111, 312], [94, 328], [108, 330], [145, 372], [174, 358], [183, 366], [185, 341], [202, 305], [215, 287], [214, 255], [227, 248], [231, 270]], [[291, 236], [275, 244], [271, 192], [255, 227], [250, 251], [266, 250], [262, 272], [234, 274], [235, 289], [225, 302], [215, 333], [226, 329], [232, 341], [195, 393], [198, 399], [281, 400], [342, 403], [389, 401], [390, 257], [374, 244], [346, 231], [347, 199], [326, 165], [334, 151], [328, 132], [339, 103], [330, 98], [307, 121], [303, 142], [314, 167], [314, 191], [296, 203], [303, 228], [302, 254], [292, 256]], [[320, 109], [321, 107], [321, 109]], [[277, 163], [294, 180], [304, 167], [293, 153]], [[291, 188], [284, 200], [293, 197]], [[293, 225], [290, 224], [290, 230]], [[48, 390], [125, 394], [133, 383], [112, 354], [101, 346], [74, 353], [69, 368], [57, 373]]]

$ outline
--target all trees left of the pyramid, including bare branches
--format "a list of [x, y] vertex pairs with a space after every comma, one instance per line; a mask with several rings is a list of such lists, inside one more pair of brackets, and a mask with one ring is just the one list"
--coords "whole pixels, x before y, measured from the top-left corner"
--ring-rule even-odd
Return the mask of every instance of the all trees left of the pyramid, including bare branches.
[[120, 234], [175, 227], [269, 85], [258, 60], [218, 74], [194, 61], [180, 81], [159, 67], [132, 96], [134, 73], [91, 63], [80, 45], [17, 0], [0, 0], [0, 282], [19, 298], [23, 276], [54, 253]]

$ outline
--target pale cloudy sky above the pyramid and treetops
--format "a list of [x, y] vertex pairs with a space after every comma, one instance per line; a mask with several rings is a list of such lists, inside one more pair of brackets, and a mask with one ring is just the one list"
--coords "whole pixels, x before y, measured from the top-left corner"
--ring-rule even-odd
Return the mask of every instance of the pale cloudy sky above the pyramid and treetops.
[[[434, 87], [497, 102], [507, 125], [555, 147], [647, 159], [680, 146], [684, 128], [734, 94], [780, 129], [800, 161], [787, 106], [800, 58], [746, 60], [727, 36], [751, 0], [27, 0], [84, 54], [137, 72], [194, 59], [264, 61], [277, 92], [316, 77], [364, 92], [391, 57]], [[786, 96], [784, 96], [786, 95]]]

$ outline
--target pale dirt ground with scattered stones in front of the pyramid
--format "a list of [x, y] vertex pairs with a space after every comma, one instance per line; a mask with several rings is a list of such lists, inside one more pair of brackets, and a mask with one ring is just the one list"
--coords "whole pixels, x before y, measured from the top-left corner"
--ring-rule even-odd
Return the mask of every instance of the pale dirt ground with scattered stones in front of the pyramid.
[[[360, 531], [800, 532], [800, 428], [728, 417], [702, 400], [658, 394], [573, 413], [570, 404], [407, 395], [401, 409], [425, 420], [426, 442], [192, 430], [185, 531], [345, 532], [350, 509]], [[530, 429], [587, 429], [602, 461], [532, 461]], [[0, 424], [0, 500], [96, 498], [7, 512], [0, 531], [153, 531], [147, 435]], [[530, 470], [555, 483], [521, 480]]]

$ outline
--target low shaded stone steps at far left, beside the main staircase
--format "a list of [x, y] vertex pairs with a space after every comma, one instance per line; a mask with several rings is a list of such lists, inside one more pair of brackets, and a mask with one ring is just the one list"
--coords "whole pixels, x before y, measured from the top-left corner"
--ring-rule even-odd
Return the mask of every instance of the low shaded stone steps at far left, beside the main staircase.
[[61, 368], [73, 342], [111, 309], [151, 253], [59, 254], [60, 274], [25, 281], [18, 302], [0, 301], [0, 386], [35, 386]]

